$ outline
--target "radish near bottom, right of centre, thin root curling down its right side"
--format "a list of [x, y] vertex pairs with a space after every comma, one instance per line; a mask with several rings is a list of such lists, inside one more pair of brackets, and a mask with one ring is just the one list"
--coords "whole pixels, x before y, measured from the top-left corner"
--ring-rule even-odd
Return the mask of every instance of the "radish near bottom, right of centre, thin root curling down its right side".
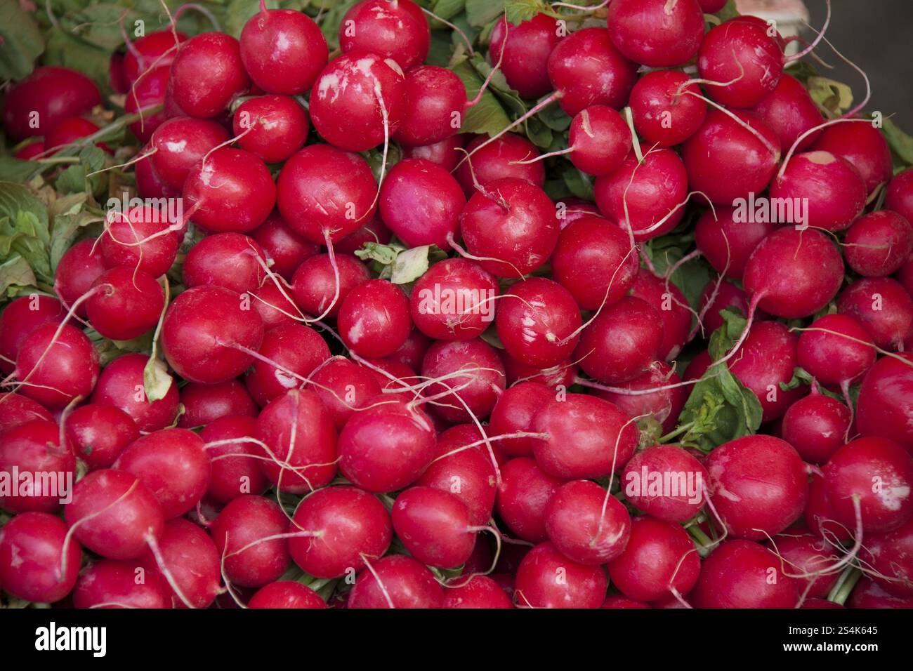
[[690, 592], [700, 560], [685, 529], [644, 516], [634, 520], [627, 547], [608, 569], [609, 580], [624, 596], [649, 602], [670, 596], [672, 589]]

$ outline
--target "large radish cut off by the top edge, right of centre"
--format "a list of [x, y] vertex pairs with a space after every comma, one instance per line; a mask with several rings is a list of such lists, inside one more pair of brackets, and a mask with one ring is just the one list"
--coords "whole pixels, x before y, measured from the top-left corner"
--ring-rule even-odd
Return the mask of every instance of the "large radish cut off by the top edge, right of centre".
[[704, 13], [698, 0], [615, 0], [608, 27], [625, 57], [650, 68], [672, 68], [698, 55]]

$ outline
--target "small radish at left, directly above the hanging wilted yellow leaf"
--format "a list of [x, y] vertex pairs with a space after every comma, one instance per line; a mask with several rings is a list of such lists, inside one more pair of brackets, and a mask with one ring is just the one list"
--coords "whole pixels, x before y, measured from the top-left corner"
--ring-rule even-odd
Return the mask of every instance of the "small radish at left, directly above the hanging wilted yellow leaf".
[[112, 267], [92, 288], [99, 291], [86, 301], [86, 314], [105, 338], [129, 341], [155, 328], [165, 307], [162, 287], [148, 273]]

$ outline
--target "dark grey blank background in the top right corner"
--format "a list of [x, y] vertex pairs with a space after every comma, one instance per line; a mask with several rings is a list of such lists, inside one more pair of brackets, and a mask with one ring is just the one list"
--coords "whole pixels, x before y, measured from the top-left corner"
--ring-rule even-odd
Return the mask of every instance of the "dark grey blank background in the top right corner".
[[[804, 0], [820, 29], [827, 14], [824, 0]], [[826, 36], [846, 58], [865, 70], [872, 82], [868, 110], [878, 110], [913, 134], [913, 0], [831, 0], [831, 26]], [[803, 37], [811, 40], [812, 31]], [[865, 82], [853, 68], [822, 43], [815, 52], [834, 70], [824, 77], [853, 87], [855, 100], [866, 94]], [[824, 70], [824, 68], [821, 68]]]

